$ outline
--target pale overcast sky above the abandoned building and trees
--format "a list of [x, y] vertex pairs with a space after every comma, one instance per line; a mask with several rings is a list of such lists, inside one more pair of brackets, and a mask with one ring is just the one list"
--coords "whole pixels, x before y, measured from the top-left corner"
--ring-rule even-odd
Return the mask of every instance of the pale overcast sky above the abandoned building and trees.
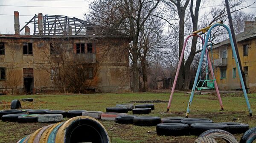
[[[201, 7], [219, 5], [222, 0], [208, 0]], [[256, 0], [246, 0], [243, 6], [247, 6]], [[51, 15], [67, 15], [83, 19], [83, 14], [89, 12], [89, 4], [92, 0], [0, 0], [0, 34], [14, 34], [14, 11], [19, 11], [20, 28], [22, 28], [33, 15], [38, 13]], [[28, 7], [27, 7], [28, 6]], [[38, 7], [41, 6], [41, 7]], [[209, 8], [208, 8], [209, 9]], [[202, 13], [207, 8], [202, 9]], [[256, 4], [243, 11], [256, 14]], [[32, 25], [29, 25], [33, 33]], [[24, 32], [21, 32], [23, 34]]]

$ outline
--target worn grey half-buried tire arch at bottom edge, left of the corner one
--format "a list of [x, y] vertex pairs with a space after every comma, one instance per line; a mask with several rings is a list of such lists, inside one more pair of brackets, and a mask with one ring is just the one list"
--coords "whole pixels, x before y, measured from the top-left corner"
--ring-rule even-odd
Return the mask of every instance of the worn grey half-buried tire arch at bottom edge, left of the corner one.
[[221, 129], [210, 129], [203, 132], [199, 137], [210, 137], [213, 139], [222, 138], [226, 140], [227, 143], [239, 143], [232, 134]]

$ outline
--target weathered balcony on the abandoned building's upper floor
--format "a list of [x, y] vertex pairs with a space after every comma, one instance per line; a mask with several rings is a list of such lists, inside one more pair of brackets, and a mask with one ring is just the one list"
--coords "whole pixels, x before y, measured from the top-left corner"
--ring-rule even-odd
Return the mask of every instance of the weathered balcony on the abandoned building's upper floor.
[[96, 54], [95, 53], [75, 53], [73, 54], [73, 59], [76, 62], [94, 63], [96, 62]]

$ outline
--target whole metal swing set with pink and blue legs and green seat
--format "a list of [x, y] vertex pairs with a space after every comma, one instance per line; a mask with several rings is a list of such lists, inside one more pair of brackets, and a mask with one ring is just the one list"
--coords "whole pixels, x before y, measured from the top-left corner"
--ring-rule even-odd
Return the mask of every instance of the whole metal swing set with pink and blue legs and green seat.
[[[171, 91], [171, 95], [170, 95], [170, 98], [169, 98], [169, 102], [168, 102], [166, 112], [169, 112], [169, 109], [170, 109], [170, 106], [171, 106], [172, 96], [173, 96], [173, 93], [174, 93], [174, 90], [175, 90], [177, 77], [178, 77], [178, 74], [179, 74], [179, 71], [180, 71], [180, 66], [181, 66], [181, 63], [182, 63], [183, 56], [184, 56], [184, 50], [185, 50], [185, 47], [186, 47], [187, 40], [191, 36], [198, 36], [202, 40], [202, 43], [204, 43], [204, 44], [203, 44], [203, 48], [202, 48], [202, 51], [201, 51], [201, 57], [200, 57], [200, 61], [199, 61], [199, 64], [198, 64], [198, 69], [197, 69], [197, 72], [196, 72], [196, 75], [195, 75], [193, 88], [192, 88], [191, 95], [190, 95], [190, 98], [189, 98], [188, 107], [186, 109], [186, 118], [189, 117], [189, 112], [190, 112], [189, 107], [192, 104], [195, 89], [197, 89], [198, 91], [200, 90], [200, 92], [201, 92], [201, 90], [204, 90], [204, 89], [214, 89], [215, 88], [216, 93], [218, 95], [218, 100], [219, 100], [219, 103], [220, 103], [221, 110], [224, 110], [222, 100], [221, 100], [221, 96], [220, 96], [220, 93], [219, 93], [219, 90], [218, 90], [218, 85], [217, 85], [217, 82], [216, 82], [216, 79], [215, 79], [215, 76], [214, 76], [214, 73], [213, 73], [212, 63], [211, 63], [210, 58], [209, 58], [208, 48], [207, 48], [207, 43], [209, 41], [209, 36], [211, 34], [211, 30], [212, 30], [212, 28], [215, 28], [216, 26], [223, 26], [224, 28], [227, 29], [228, 35], [230, 37], [230, 44], [231, 44], [232, 51], [233, 51], [233, 54], [234, 54], [234, 58], [235, 58], [235, 61], [236, 61], [236, 67], [238, 69], [239, 79], [240, 79], [241, 86], [242, 86], [243, 93], [244, 93], [244, 98], [245, 98], [245, 101], [246, 101], [246, 104], [247, 104], [247, 108], [249, 110], [249, 115], [252, 116], [252, 110], [250, 108], [249, 99], [248, 99], [248, 96], [247, 96], [247, 93], [246, 93], [246, 90], [245, 90], [245, 87], [244, 87], [244, 81], [243, 81], [243, 78], [242, 78], [241, 69], [239, 67], [239, 62], [238, 62], [238, 59], [237, 59], [236, 50], [235, 50], [234, 42], [233, 42], [233, 39], [232, 39], [231, 31], [227, 27], [227, 25], [223, 24], [223, 21], [220, 21], [220, 22], [217, 22], [215, 24], [209, 25], [209, 26], [207, 26], [205, 28], [202, 28], [198, 31], [194, 31], [192, 34], [190, 34], [189, 36], [186, 37], [186, 39], [184, 41], [183, 49], [182, 49], [182, 52], [181, 52], [181, 55], [180, 55], [180, 60], [179, 60], [179, 64], [178, 64], [178, 67], [177, 67], [175, 79], [174, 79], [174, 82], [173, 82], [173, 85], [172, 85], [172, 91]], [[203, 39], [202, 36], [200, 36], [198, 34], [199, 32], [202, 32], [203, 34], [205, 34], [207, 32], [207, 36], [206, 36], [205, 40]], [[212, 41], [210, 41], [210, 42], [212, 43]], [[212, 44], [210, 44], [210, 46], [211, 46], [210, 49], [212, 49]], [[206, 59], [206, 62], [207, 62], [206, 79], [201, 79], [201, 76], [200, 76], [200, 80], [198, 81], [199, 74], [201, 73], [201, 67], [202, 67], [202, 63], [203, 63], [203, 60], [204, 60], [204, 56], [206, 56], [205, 59]], [[212, 79], [209, 79], [208, 67], [209, 67]]]

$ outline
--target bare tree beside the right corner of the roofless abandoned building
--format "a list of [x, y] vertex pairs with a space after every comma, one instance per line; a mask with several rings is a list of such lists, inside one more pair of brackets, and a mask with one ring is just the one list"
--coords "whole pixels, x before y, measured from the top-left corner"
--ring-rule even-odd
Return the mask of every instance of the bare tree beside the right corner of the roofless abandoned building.
[[100, 0], [91, 4], [92, 22], [105, 26], [114, 33], [125, 33], [131, 36], [128, 47], [132, 62], [133, 91], [139, 91], [140, 54], [139, 36], [145, 23], [151, 20], [160, 0]]

